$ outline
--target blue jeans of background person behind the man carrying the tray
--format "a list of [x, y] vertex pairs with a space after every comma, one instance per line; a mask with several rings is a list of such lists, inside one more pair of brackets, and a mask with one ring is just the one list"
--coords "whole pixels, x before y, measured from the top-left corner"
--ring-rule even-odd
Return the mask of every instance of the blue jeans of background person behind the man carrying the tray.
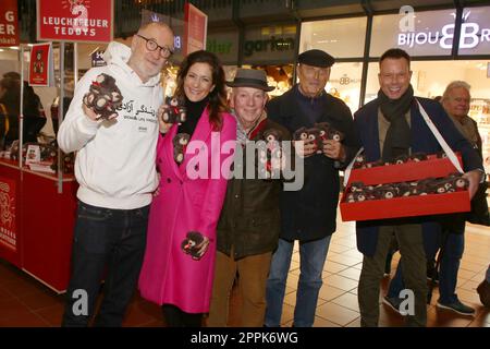
[[[439, 269], [439, 301], [444, 304], [454, 303], [457, 300], [456, 294], [456, 284], [457, 284], [457, 272], [460, 269], [460, 261], [463, 256], [465, 236], [461, 232], [461, 226], [455, 226], [457, 233], [452, 231], [446, 231], [448, 238], [445, 240], [442, 260]], [[464, 227], [463, 227], [464, 229]], [[437, 251], [444, 243], [442, 241], [443, 237], [439, 237], [438, 243], [429, 243], [428, 245], [428, 257], [427, 260], [434, 258]], [[390, 282], [388, 289], [388, 297], [399, 297], [400, 291], [405, 288], [403, 282], [403, 257], [400, 260], [399, 267], [396, 268], [395, 276]]]

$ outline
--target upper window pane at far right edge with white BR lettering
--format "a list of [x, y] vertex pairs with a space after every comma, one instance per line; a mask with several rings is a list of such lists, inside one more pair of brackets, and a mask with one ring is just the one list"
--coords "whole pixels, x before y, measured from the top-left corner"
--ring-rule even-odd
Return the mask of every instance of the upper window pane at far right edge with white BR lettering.
[[460, 55], [490, 55], [490, 7], [463, 10]]

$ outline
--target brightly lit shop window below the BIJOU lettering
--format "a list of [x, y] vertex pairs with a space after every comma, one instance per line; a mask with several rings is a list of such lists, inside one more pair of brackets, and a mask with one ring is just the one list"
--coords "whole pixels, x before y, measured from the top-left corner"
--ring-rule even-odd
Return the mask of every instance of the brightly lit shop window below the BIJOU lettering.
[[[469, 117], [478, 123], [483, 146], [487, 172], [490, 171], [490, 84], [487, 72], [489, 61], [413, 61], [411, 64], [412, 86], [415, 95], [434, 98], [441, 96], [445, 86], [455, 80], [467, 82], [470, 86], [471, 101]], [[335, 67], [335, 65], [334, 65]], [[448, 74], [451, 72], [451, 74]], [[379, 91], [379, 63], [369, 63], [365, 104], [375, 99]]]

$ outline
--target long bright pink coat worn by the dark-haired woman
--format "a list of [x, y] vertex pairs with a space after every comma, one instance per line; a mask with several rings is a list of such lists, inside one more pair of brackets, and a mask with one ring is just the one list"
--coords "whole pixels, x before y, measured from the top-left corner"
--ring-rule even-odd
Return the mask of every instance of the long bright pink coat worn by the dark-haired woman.
[[[143, 298], [157, 304], [176, 305], [187, 313], [209, 311], [216, 227], [226, 191], [226, 178], [221, 167], [230, 169], [236, 140], [235, 119], [229, 113], [222, 116], [223, 127], [218, 133], [211, 132], [207, 109], [203, 112], [180, 166], [173, 159], [172, 140], [176, 125], [160, 139], [157, 148], [160, 193], [151, 203], [138, 286]], [[193, 179], [193, 173], [197, 172], [206, 178]], [[199, 261], [181, 250], [181, 243], [191, 230], [211, 240]]]

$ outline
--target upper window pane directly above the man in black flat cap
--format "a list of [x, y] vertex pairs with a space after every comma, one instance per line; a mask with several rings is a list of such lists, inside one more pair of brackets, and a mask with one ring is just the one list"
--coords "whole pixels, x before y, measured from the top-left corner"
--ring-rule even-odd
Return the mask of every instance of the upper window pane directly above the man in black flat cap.
[[316, 48], [335, 58], [363, 57], [366, 23], [366, 17], [303, 23], [299, 52]]

